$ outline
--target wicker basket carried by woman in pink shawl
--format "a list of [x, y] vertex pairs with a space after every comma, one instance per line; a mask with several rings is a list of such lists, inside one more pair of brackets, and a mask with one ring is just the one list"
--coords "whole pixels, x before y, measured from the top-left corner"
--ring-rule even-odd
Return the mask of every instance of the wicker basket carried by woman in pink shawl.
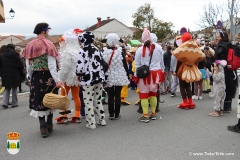
[[[53, 90], [56, 87], [53, 88]], [[43, 97], [43, 105], [45, 107], [51, 108], [51, 109], [61, 109], [61, 110], [67, 110], [70, 106], [70, 100], [67, 97], [66, 89], [65, 87], [61, 87], [65, 91], [65, 95], [58, 95], [54, 94], [53, 90], [50, 93], [45, 94]]]

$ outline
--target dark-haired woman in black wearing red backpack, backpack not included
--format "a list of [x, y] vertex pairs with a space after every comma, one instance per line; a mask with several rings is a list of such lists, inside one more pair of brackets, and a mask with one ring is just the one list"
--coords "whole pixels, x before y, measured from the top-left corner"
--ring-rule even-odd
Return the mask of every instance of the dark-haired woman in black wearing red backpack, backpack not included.
[[[228, 48], [230, 45], [229, 35], [227, 32], [220, 31], [217, 36], [217, 48], [214, 58], [216, 60], [227, 60]], [[224, 68], [225, 84], [226, 84], [226, 98], [224, 101], [223, 112], [230, 112], [232, 109], [232, 99], [235, 98], [238, 86], [237, 72], [229, 70], [227, 66]]]

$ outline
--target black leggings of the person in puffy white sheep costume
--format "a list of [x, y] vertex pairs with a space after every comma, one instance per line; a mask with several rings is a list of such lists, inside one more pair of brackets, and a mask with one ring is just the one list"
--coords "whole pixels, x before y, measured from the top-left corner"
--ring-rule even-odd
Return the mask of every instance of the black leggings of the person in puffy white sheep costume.
[[117, 118], [120, 114], [121, 91], [122, 91], [122, 86], [112, 86], [107, 88], [108, 111], [109, 111], [110, 117], [115, 116]]

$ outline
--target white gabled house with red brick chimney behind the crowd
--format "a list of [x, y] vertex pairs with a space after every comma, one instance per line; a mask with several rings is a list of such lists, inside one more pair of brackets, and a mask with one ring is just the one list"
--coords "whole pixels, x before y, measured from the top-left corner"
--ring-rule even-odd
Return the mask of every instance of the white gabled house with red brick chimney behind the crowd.
[[108, 33], [116, 33], [119, 37], [132, 37], [134, 30], [117, 19], [107, 17], [106, 20], [97, 18], [97, 23], [93, 26], [85, 29], [85, 31], [91, 31], [97, 39], [103, 39]]

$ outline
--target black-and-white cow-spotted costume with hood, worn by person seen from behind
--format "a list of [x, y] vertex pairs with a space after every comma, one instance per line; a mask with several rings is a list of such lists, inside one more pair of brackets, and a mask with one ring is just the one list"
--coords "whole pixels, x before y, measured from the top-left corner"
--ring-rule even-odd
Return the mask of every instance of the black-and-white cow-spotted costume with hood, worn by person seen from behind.
[[76, 74], [80, 76], [80, 82], [83, 87], [83, 98], [85, 104], [86, 127], [95, 129], [96, 121], [93, 106], [96, 107], [99, 120], [97, 123], [104, 125], [105, 113], [102, 106], [102, 82], [104, 71], [101, 66], [102, 55], [99, 50], [92, 45], [94, 35], [92, 32], [83, 32], [79, 39], [83, 48], [77, 56]]

